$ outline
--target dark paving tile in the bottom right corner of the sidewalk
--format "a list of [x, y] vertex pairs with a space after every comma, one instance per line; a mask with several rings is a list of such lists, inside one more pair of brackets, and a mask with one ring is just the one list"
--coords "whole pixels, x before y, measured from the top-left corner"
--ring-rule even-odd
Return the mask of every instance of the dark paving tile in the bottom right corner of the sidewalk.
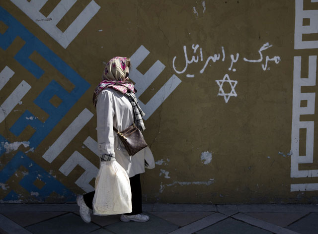
[[290, 229], [301, 234], [318, 234], [318, 214], [310, 214], [287, 226], [286, 229]]

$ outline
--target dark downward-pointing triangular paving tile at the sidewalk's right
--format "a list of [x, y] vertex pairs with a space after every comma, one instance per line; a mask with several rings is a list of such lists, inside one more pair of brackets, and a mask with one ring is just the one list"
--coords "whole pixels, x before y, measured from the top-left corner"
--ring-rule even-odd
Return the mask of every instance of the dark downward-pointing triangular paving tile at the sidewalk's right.
[[271, 224], [275, 224], [280, 227], [286, 227], [287, 225], [290, 225], [291, 223], [294, 223], [295, 221], [301, 219], [305, 215], [307, 215], [307, 212], [293, 212], [293, 213], [287, 213], [287, 212], [246, 212], [244, 213], [248, 216], [254, 217], [256, 219], [260, 219], [263, 221], [266, 221]]

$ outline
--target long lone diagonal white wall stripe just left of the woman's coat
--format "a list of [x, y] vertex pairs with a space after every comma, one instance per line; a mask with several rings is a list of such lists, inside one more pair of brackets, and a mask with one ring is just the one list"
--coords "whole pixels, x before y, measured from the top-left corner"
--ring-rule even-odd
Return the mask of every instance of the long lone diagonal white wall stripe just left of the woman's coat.
[[52, 163], [56, 157], [65, 149], [65, 147], [73, 140], [85, 124], [93, 117], [93, 114], [86, 108], [79, 114], [78, 117], [65, 129], [59, 138], [50, 146], [44, 153], [44, 158], [49, 163]]

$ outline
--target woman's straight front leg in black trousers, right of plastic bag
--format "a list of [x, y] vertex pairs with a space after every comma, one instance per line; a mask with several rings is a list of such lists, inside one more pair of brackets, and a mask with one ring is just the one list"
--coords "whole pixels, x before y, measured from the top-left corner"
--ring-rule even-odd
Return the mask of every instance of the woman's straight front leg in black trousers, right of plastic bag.
[[140, 174], [130, 177], [130, 189], [131, 189], [131, 203], [133, 211], [125, 215], [138, 215], [143, 212], [142, 210], [142, 196], [141, 196], [141, 183]]

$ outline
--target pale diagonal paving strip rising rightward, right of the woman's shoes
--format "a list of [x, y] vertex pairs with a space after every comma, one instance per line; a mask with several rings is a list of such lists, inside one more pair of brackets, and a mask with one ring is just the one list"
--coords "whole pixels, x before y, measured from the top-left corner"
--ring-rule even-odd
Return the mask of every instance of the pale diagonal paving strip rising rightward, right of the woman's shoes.
[[206, 227], [209, 227], [221, 220], [224, 220], [228, 218], [228, 216], [220, 214], [220, 213], [215, 213], [212, 215], [209, 215], [207, 217], [204, 217], [203, 219], [200, 219], [196, 222], [193, 222], [187, 226], [184, 226], [182, 228], [179, 228], [169, 234], [192, 234], [195, 233], [201, 229], [204, 229]]

